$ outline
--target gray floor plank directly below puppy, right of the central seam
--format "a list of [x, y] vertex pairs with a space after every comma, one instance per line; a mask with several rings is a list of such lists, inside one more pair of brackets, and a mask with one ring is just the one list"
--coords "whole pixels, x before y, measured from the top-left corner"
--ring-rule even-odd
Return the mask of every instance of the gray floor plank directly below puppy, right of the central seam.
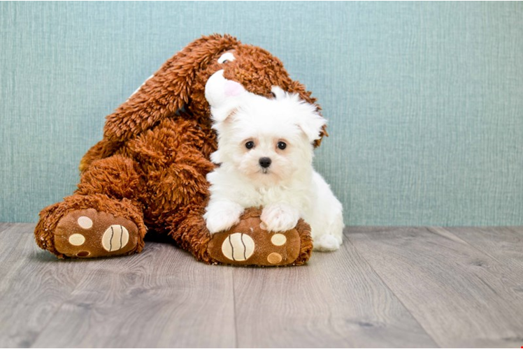
[[308, 265], [234, 269], [240, 348], [424, 348], [436, 343], [346, 241]]

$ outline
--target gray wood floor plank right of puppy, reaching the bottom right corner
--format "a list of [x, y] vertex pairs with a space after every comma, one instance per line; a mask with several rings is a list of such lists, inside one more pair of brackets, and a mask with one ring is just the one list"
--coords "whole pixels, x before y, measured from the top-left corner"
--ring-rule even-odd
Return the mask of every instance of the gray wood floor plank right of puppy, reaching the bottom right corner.
[[498, 260], [441, 229], [352, 227], [345, 235], [438, 345], [521, 346], [523, 294], [506, 284]]

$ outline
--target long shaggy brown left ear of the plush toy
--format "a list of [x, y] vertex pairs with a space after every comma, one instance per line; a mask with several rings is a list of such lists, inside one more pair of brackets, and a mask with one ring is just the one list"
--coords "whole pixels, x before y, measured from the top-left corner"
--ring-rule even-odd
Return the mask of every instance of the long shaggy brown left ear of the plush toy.
[[239, 44], [232, 36], [218, 34], [194, 40], [166, 61], [135, 94], [106, 117], [103, 135], [110, 141], [123, 142], [180, 110], [189, 102], [196, 73], [213, 56]]

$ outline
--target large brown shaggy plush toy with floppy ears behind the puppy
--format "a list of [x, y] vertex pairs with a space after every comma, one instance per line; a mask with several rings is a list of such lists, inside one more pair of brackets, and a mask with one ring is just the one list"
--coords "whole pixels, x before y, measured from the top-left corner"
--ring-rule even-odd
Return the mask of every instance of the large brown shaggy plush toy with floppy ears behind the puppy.
[[252, 208], [227, 232], [211, 237], [206, 228], [206, 174], [214, 168], [216, 136], [204, 92], [222, 69], [254, 94], [271, 98], [271, 87], [279, 86], [315, 103], [266, 50], [229, 35], [195, 40], [108, 115], [103, 140], [80, 161], [78, 189], [40, 212], [38, 246], [59, 258], [128, 255], [141, 252], [146, 232], [154, 230], [207, 263], [306, 262], [313, 245], [303, 221], [287, 232], [267, 232], [261, 210]]

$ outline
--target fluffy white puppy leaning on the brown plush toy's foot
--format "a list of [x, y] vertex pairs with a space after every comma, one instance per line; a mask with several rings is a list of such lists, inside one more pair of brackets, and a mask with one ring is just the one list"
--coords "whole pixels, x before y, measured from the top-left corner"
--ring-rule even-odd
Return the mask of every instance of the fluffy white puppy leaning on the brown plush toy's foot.
[[342, 206], [312, 166], [313, 142], [325, 119], [296, 94], [279, 87], [273, 94], [274, 99], [251, 94], [224, 79], [223, 70], [206, 84], [218, 135], [211, 160], [220, 164], [207, 175], [207, 228], [227, 230], [245, 208], [262, 206], [268, 231], [292, 229], [303, 218], [315, 250], [334, 251], [342, 243]]

